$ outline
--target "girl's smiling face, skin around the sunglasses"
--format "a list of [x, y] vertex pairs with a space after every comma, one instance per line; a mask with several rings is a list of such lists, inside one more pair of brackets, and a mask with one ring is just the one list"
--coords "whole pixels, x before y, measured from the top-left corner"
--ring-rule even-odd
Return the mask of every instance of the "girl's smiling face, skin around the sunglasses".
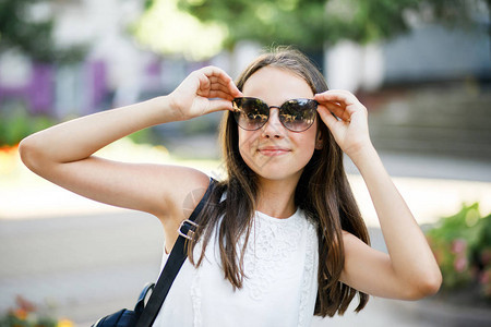
[[[274, 66], [262, 68], [252, 74], [244, 83], [242, 94], [278, 107], [290, 99], [314, 96], [302, 77]], [[316, 122], [307, 131], [291, 132], [279, 122], [278, 109], [270, 110], [270, 119], [261, 129], [246, 131], [238, 128], [240, 155], [260, 179], [298, 182], [315, 145], [321, 144]]]

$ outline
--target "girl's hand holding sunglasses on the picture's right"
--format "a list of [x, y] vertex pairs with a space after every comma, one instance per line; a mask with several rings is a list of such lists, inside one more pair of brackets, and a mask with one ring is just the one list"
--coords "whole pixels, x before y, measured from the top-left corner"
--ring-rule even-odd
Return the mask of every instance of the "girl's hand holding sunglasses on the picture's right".
[[316, 94], [318, 112], [336, 143], [351, 159], [371, 147], [367, 108], [348, 90], [330, 89]]

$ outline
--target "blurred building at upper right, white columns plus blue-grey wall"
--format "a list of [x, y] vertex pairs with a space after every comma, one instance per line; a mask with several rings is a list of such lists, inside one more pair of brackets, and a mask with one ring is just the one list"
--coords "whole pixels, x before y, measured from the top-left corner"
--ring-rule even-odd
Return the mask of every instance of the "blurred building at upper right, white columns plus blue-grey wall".
[[489, 20], [472, 28], [416, 25], [390, 41], [342, 41], [325, 52], [331, 88], [374, 90], [387, 84], [491, 80]]

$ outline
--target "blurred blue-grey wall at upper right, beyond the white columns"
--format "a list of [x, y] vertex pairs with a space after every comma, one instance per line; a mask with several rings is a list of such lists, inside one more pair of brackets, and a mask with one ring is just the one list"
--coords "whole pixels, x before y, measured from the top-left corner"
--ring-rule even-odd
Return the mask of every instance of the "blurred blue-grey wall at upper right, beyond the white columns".
[[383, 46], [385, 83], [491, 77], [488, 25], [422, 25]]

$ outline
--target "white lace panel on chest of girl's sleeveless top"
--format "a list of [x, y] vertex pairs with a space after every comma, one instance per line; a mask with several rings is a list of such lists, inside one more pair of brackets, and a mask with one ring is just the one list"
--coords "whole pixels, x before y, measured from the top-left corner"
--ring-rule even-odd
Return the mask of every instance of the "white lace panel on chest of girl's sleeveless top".
[[[306, 222], [304, 219], [299, 219], [297, 214], [286, 219], [256, 214], [243, 257], [244, 289], [251, 299], [261, 301], [264, 294], [275, 289], [274, 283], [278, 276], [291, 271], [288, 269], [288, 266], [292, 265], [289, 253], [297, 246], [302, 225]], [[239, 249], [243, 242], [244, 238], [240, 240]]]

